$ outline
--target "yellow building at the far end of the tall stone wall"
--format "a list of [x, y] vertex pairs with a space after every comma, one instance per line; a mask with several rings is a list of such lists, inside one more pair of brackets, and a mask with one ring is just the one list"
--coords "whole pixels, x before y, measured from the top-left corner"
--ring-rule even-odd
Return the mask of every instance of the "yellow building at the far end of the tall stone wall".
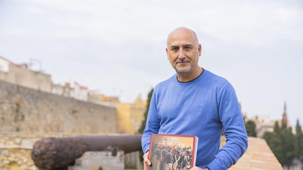
[[117, 103], [117, 122], [120, 133], [136, 134], [144, 120], [147, 101], [142, 101], [141, 95], [134, 103]]

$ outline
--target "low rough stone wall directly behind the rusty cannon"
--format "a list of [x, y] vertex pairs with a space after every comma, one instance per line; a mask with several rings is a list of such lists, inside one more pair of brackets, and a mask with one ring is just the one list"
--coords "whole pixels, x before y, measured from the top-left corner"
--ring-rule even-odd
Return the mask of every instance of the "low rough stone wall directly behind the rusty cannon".
[[[94, 133], [26, 133], [0, 132], [1, 170], [38, 170], [31, 158], [36, 141], [46, 137], [68, 137], [77, 135], [102, 135]], [[140, 151], [142, 152], [142, 151]], [[139, 151], [125, 154], [126, 167], [139, 167]], [[95, 168], [96, 169], [96, 168]]]

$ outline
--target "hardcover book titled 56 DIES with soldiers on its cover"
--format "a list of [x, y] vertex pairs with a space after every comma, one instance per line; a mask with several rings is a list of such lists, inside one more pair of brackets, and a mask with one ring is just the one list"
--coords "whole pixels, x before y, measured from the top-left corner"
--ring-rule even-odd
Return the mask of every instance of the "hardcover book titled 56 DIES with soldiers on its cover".
[[188, 170], [195, 166], [198, 137], [151, 134], [148, 170]]

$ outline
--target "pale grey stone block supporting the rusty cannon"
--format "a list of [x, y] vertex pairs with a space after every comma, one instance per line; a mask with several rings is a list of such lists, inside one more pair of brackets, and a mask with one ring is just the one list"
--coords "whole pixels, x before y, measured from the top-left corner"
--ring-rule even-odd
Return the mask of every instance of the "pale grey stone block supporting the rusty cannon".
[[116, 156], [112, 156], [112, 153], [109, 151], [88, 151], [75, 160], [74, 166], [68, 167], [68, 170], [95, 169], [124, 169], [124, 152], [119, 151]]

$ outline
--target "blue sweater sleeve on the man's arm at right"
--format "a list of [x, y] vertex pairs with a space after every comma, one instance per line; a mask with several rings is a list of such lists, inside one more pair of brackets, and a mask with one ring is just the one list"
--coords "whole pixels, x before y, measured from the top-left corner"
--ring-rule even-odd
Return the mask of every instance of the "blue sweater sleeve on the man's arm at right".
[[218, 113], [224, 127], [226, 144], [207, 166], [211, 170], [227, 169], [244, 154], [248, 138], [238, 99], [231, 84], [225, 86], [218, 100]]

